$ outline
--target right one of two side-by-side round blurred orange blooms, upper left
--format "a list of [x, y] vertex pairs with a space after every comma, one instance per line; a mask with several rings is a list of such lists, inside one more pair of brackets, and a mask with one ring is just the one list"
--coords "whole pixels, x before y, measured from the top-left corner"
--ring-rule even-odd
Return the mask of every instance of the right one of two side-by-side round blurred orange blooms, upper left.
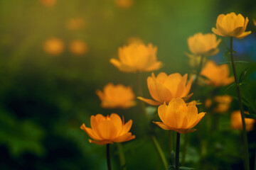
[[75, 55], [84, 55], [86, 52], [88, 52], [88, 46], [82, 40], [71, 41], [69, 49], [70, 52], [72, 52]]

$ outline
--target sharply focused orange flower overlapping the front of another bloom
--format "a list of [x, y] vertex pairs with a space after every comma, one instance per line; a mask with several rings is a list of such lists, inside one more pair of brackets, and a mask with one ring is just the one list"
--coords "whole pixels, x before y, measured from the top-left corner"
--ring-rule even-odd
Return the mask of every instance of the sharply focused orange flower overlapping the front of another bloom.
[[158, 108], [161, 122], [153, 122], [164, 130], [174, 130], [179, 133], [194, 132], [191, 129], [197, 125], [206, 113], [198, 114], [196, 102], [188, 103], [188, 106], [181, 98], [171, 99], [168, 106], [166, 103]]

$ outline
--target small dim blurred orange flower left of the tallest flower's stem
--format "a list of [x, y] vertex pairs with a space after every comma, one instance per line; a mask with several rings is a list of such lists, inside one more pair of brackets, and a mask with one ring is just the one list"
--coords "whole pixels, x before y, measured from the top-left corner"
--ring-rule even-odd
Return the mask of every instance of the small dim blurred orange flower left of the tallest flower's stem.
[[215, 113], [224, 113], [230, 108], [230, 103], [233, 100], [231, 96], [215, 96], [214, 101], [217, 102], [217, 106], [213, 109]]

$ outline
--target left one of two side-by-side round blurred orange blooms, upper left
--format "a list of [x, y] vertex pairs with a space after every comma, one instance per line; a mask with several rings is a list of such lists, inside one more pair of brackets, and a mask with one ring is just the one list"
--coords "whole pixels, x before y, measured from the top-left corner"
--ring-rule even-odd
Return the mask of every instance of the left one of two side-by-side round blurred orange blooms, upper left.
[[51, 38], [46, 40], [43, 45], [43, 50], [50, 55], [60, 55], [60, 53], [64, 50], [64, 43], [58, 38]]

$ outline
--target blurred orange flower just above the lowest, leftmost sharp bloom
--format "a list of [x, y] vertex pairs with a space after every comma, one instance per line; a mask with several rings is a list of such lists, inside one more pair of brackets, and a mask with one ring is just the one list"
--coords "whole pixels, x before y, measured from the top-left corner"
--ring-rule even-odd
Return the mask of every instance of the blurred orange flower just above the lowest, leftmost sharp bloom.
[[135, 106], [135, 95], [132, 88], [124, 86], [122, 84], [107, 84], [103, 91], [97, 90], [97, 96], [99, 96], [102, 108], [130, 108]]

